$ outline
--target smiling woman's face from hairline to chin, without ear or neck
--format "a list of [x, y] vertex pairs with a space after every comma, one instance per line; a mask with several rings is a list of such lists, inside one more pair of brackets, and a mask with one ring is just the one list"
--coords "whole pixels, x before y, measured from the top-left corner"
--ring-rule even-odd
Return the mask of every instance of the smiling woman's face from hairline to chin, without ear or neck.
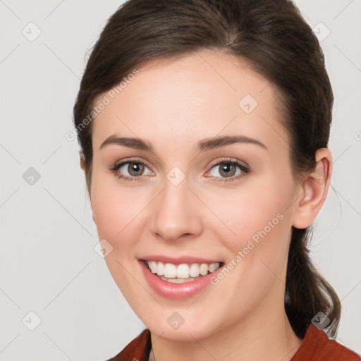
[[97, 99], [93, 123], [91, 202], [112, 247], [106, 264], [154, 334], [262, 327], [283, 312], [300, 196], [274, 87], [210, 51], [137, 70]]

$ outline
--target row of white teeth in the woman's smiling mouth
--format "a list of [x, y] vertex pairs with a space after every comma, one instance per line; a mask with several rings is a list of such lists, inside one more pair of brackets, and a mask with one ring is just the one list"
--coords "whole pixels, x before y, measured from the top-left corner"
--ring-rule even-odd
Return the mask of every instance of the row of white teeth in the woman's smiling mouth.
[[[206, 274], [212, 273], [219, 269], [219, 262], [207, 264], [207, 263], [192, 263], [192, 264], [171, 264], [156, 261], [147, 261], [149, 269], [152, 273], [161, 276], [161, 279], [164, 281], [169, 281], [173, 283], [182, 283], [183, 280], [190, 279], [198, 276], [205, 276]], [[187, 281], [187, 282], [188, 282]]]

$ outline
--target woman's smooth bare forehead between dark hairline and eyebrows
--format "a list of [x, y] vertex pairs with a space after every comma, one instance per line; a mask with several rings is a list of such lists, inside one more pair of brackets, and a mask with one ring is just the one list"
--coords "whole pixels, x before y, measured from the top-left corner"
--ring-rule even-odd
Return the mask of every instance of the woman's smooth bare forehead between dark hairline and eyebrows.
[[177, 147], [200, 138], [243, 133], [285, 139], [274, 86], [235, 56], [212, 51], [150, 61], [104, 92], [95, 118], [93, 146], [109, 135], [156, 139]]

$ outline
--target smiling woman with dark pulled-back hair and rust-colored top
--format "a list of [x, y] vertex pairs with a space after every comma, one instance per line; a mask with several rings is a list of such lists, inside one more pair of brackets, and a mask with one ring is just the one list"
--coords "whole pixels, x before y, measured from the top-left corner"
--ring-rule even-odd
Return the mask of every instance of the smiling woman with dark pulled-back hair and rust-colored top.
[[333, 93], [287, 0], [130, 0], [74, 107], [106, 264], [147, 329], [111, 360], [360, 360], [312, 266]]

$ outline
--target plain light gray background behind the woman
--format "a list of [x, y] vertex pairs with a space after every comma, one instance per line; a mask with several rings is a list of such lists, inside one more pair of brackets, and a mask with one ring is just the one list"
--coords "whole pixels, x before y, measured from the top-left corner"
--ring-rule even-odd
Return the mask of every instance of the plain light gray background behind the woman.
[[[120, 4], [0, 0], [0, 360], [106, 360], [144, 328], [94, 251], [78, 144], [65, 137], [87, 54]], [[361, 1], [296, 4], [335, 93], [334, 189], [311, 254], [342, 300], [338, 342], [361, 353]]]

